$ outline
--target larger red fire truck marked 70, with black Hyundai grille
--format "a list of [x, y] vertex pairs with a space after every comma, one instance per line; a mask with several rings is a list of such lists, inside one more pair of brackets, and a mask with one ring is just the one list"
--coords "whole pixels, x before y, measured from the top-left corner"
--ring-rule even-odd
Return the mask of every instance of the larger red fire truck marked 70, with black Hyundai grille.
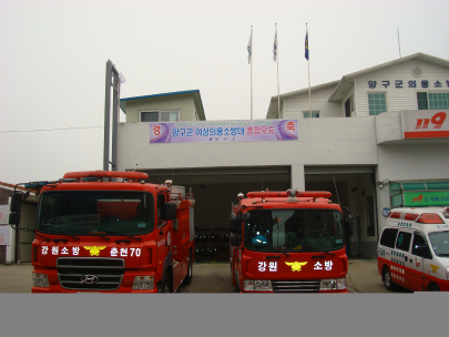
[[[32, 293], [171, 293], [192, 280], [195, 201], [146, 173], [70, 172], [40, 190]], [[12, 195], [10, 224], [20, 223]]]

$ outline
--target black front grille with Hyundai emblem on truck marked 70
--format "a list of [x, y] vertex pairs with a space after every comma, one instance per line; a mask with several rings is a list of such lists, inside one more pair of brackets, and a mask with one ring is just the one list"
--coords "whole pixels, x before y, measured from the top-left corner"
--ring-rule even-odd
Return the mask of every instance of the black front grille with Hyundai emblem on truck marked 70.
[[122, 283], [123, 258], [60, 257], [57, 259], [61, 287], [71, 290], [115, 290]]

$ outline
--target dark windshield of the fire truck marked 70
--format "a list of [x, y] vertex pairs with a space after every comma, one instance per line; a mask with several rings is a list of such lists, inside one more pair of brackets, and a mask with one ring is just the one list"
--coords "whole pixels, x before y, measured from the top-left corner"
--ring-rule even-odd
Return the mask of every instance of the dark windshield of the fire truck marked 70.
[[153, 195], [144, 192], [50, 191], [39, 201], [38, 231], [60, 235], [147, 234], [154, 228], [153, 205]]

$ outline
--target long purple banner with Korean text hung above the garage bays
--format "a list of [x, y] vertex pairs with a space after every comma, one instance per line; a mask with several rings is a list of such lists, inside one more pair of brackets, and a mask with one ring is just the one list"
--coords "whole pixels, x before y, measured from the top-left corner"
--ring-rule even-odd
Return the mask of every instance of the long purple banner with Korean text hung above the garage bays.
[[297, 120], [150, 123], [150, 143], [293, 141]]

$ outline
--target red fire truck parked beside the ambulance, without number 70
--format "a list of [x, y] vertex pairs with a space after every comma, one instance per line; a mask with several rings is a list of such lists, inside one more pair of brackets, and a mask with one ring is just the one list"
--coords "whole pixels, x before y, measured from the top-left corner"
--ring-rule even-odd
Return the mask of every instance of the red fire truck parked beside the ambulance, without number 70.
[[231, 213], [241, 293], [348, 293], [341, 207], [330, 192], [249, 192]]

